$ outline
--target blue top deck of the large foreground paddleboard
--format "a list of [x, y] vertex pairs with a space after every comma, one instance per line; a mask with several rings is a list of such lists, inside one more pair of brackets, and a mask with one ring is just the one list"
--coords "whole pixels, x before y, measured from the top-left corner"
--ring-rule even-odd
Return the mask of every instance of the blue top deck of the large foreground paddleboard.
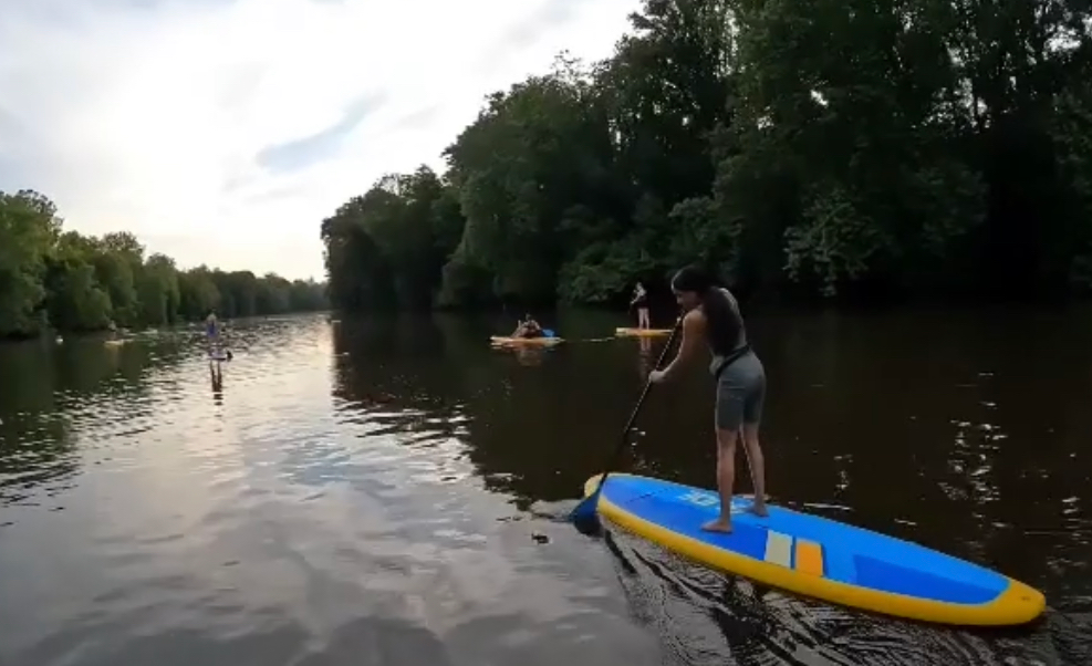
[[[599, 477], [594, 477], [589, 482], [597, 483], [597, 480]], [[772, 504], [768, 504], [768, 517], [758, 517], [748, 511], [750, 498], [734, 498], [732, 533], [706, 531], [701, 525], [719, 513], [719, 496], [711, 490], [670, 481], [611, 475], [601, 496], [601, 511], [603, 500], [674, 535], [700, 542], [722, 553], [742, 555], [784, 569], [782, 573], [774, 571], [767, 577], [788, 581], [790, 577], [817, 576], [886, 595], [976, 607], [992, 604], [1013, 583], [1026, 587], [971, 562], [835, 520]], [[648, 531], [643, 535], [656, 541], [651, 533], [653, 530]], [[669, 547], [668, 541], [674, 541], [675, 537], [664, 539], [664, 545]], [[727, 555], [721, 556], [724, 562], [730, 560]], [[724, 564], [717, 561], [715, 554], [708, 559], [706, 564]], [[731, 570], [728, 565], [718, 568]], [[778, 584], [777, 580], [767, 582]], [[1041, 612], [1042, 595], [1030, 587], [1027, 590], [1029, 594], [1038, 595], [1038, 600], [1026, 600], [1026, 603], [1030, 607], [1038, 601]], [[883, 608], [873, 610], [883, 612]]]

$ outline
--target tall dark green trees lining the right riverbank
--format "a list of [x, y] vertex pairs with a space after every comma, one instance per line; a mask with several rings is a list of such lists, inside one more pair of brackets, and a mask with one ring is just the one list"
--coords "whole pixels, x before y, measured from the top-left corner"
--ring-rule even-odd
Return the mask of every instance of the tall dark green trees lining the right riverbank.
[[779, 298], [1092, 288], [1075, 0], [645, 0], [497, 92], [446, 171], [322, 222], [347, 310], [614, 302], [700, 262]]

